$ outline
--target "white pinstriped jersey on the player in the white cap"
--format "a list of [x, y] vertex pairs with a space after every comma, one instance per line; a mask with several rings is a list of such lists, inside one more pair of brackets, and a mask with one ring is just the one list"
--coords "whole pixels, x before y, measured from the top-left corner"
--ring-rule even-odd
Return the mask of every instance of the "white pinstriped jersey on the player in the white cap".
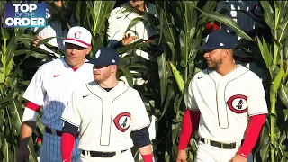
[[23, 98], [43, 106], [41, 121], [45, 126], [62, 130], [61, 114], [73, 90], [93, 80], [92, 64], [85, 63], [74, 71], [64, 58], [58, 58], [37, 70]]

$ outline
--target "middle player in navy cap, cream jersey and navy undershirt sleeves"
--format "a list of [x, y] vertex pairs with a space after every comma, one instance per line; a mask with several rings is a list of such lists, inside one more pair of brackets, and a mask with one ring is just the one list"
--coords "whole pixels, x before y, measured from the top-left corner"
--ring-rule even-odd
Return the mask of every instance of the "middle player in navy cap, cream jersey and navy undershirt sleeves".
[[62, 115], [63, 161], [71, 159], [78, 129], [80, 161], [134, 162], [133, 142], [145, 162], [153, 161], [148, 113], [139, 93], [116, 79], [118, 62], [119, 54], [105, 47], [90, 61], [94, 81], [76, 88]]

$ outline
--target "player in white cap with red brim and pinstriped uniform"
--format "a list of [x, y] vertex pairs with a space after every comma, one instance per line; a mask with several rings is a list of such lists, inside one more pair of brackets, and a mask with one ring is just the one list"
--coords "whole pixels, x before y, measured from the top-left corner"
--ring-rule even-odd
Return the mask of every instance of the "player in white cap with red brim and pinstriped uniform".
[[[60, 117], [76, 86], [93, 80], [93, 66], [85, 63], [85, 56], [91, 50], [91, 38], [90, 31], [85, 28], [72, 27], [64, 40], [65, 57], [42, 65], [31, 79], [23, 94], [28, 103], [23, 113], [18, 161], [28, 160], [27, 142], [35, 128], [40, 106], [43, 108], [41, 121], [45, 125], [40, 161], [61, 161], [63, 121]], [[79, 150], [74, 149], [72, 161], [76, 161], [79, 156]]]

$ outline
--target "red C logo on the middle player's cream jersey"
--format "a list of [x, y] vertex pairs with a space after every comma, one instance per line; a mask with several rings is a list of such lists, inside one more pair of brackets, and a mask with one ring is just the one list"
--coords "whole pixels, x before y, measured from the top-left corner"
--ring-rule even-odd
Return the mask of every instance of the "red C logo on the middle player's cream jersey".
[[125, 132], [130, 127], [130, 117], [131, 114], [128, 112], [122, 112], [115, 117], [114, 124], [118, 130]]

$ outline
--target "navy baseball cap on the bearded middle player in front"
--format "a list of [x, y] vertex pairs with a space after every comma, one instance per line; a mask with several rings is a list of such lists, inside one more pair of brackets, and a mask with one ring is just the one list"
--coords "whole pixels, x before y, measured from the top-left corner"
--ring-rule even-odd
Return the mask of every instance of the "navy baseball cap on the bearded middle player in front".
[[94, 64], [99, 67], [106, 67], [110, 65], [118, 65], [119, 54], [116, 50], [108, 47], [101, 47], [94, 55], [94, 58], [88, 61], [90, 64]]

